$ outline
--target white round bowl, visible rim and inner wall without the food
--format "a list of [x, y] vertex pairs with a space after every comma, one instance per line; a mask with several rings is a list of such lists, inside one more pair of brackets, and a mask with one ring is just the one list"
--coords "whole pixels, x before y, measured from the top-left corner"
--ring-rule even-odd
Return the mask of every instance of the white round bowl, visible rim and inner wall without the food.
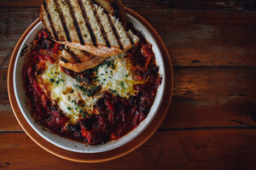
[[15, 59], [15, 67], [14, 67], [14, 90], [15, 90], [15, 99], [20, 107], [20, 111], [22, 112], [23, 116], [26, 118], [26, 122], [44, 139], [49, 141], [51, 144], [55, 144], [56, 146], [79, 153], [99, 153], [103, 151], [113, 150], [116, 149], [124, 144], [127, 144], [132, 139], [136, 138], [138, 134], [142, 133], [143, 130], [148, 127], [148, 124], [154, 119], [157, 111], [159, 110], [162, 98], [164, 96], [164, 89], [166, 83], [165, 77], [165, 68], [164, 68], [164, 61], [162, 58], [162, 54], [160, 53], [160, 48], [157, 42], [154, 40], [154, 37], [148, 31], [148, 29], [143, 26], [138, 20], [132, 17], [130, 14], [127, 14], [128, 22], [131, 22], [133, 26], [138, 30], [141, 31], [143, 36], [153, 45], [153, 50], [156, 58], [156, 64], [159, 66], [160, 70], [159, 73], [163, 78], [160, 87], [158, 88], [158, 92], [156, 94], [156, 98], [154, 99], [154, 104], [152, 105], [148, 116], [146, 119], [143, 120], [139, 124], [138, 127], [133, 129], [130, 133], [127, 133], [124, 137], [113, 140], [108, 142], [107, 144], [99, 144], [99, 145], [88, 145], [82, 144], [80, 142], [75, 142], [71, 139], [62, 138], [54, 133], [49, 132], [49, 130], [45, 130], [44, 127], [38, 125], [37, 122], [34, 121], [32, 118], [32, 114], [30, 113], [29, 108], [27, 107], [27, 99], [26, 99], [26, 92], [24, 88], [24, 82], [22, 77], [22, 68], [26, 62], [26, 54], [21, 56], [22, 48], [27, 46], [27, 49], [30, 49], [32, 46], [32, 42], [34, 38], [38, 35], [39, 31], [44, 30], [44, 26], [42, 22], [39, 22], [36, 26], [32, 28], [24, 41], [22, 42], [18, 54]]

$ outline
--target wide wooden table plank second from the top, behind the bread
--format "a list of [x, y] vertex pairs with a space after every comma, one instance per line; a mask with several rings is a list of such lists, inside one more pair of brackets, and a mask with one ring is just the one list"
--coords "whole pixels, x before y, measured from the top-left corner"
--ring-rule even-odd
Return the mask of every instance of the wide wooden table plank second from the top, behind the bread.
[[[136, 8], [160, 33], [174, 66], [256, 66], [256, 12]], [[2, 8], [0, 68], [7, 68], [38, 8]]]

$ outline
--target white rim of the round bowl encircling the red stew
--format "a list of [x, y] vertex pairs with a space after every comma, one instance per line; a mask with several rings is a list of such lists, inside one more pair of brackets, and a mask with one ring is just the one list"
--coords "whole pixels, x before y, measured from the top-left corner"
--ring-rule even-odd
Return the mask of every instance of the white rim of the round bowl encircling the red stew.
[[[74, 151], [74, 152], [79, 152], [79, 153], [99, 153], [99, 152], [103, 152], [103, 151], [108, 151], [108, 150], [114, 150], [124, 144], [127, 144], [128, 142], [130, 142], [132, 139], [135, 139], [140, 133], [142, 133], [144, 131], [145, 128], [148, 127], [148, 125], [150, 124], [150, 122], [152, 122], [152, 120], [154, 119], [154, 116], [157, 114], [157, 112], [160, 109], [160, 104], [162, 103], [162, 99], [163, 99], [163, 93], [165, 91], [165, 87], [166, 87], [166, 69], [165, 69], [165, 65], [164, 65], [164, 61], [163, 61], [163, 57], [162, 54], [160, 52], [160, 48], [158, 46], [158, 43], [155, 41], [154, 37], [152, 36], [152, 34], [148, 31], [148, 29], [146, 28], [146, 26], [143, 26], [142, 23], [140, 23], [137, 19], [135, 19], [133, 16], [131, 16], [131, 14], [127, 14], [127, 19], [131, 21], [131, 23], [136, 27], [137, 30], [142, 31], [143, 30], [143, 36], [144, 37], [149, 37], [146, 38], [148, 42], [150, 42], [151, 44], [153, 44], [153, 51], [154, 54], [155, 52], [158, 53], [155, 54], [155, 58], [156, 60], [159, 60], [160, 64], [158, 64], [158, 66], [160, 67], [161, 70], [161, 77], [162, 77], [162, 82], [160, 84], [160, 87], [158, 88], [157, 91], [157, 95], [154, 99], [154, 104], [151, 106], [150, 111], [148, 112], [148, 116], [146, 117], [146, 119], [143, 120], [143, 122], [141, 122], [137, 127], [135, 127], [130, 133], [125, 134], [125, 136], [123, 136], [120, 139], [117, 140], [113, 140], [108, 142], [107, 144], [99, 144], [99, 145], [87, 145], [84, 144], [84, 146], [86, 147], [86, 150], [79, 150], [77, 148], [70, 148], [66, 145], [62, 145], [59, 144], [58, 142], [56, 142], [55, 140], [49, 139], [49, 137], [45, 136], [45, 130], [43, 129], [43, 127], [41, 127], [40, 125], [38, 125], [37, 122], [35, 122], [32, 117], [28, 117], [26, 115], [26, 109], [23, 107], [23, 105], [20, 103], [20, 94], [18, 93], [17, 90], [17, 82], [16, 82], [16, 77], [17, 77], [17, 65], [18, 65], [18, 61], [20, 60], [20, 54], [21, 54], [21, 49], [22, 47], [24, 47], [26, 40], [28, 39], [28, 37], [32, 36], [32, 32], [35, 31], [38, 26], [42, 25], [42, 22], [39, 22], [36, 26], [34, 26], [32, 28], [32, 30], [26, 35], [25, 39], [23, 40], [23, 42], [20, 45], [19, 51], [17, 53], [16, 59], [15, 59], [15, 67], [14, 67], [14, 77], [13, 77], [13, 81], [14, 81], [14, 91], [15, 91], [15, 99], [17, 100], [17, 103], [20, 107], [20, 111], [22, 113], [22, 115], [25, 117], [26, 122], [29, 123], [29, 125], [44, 139], [46, 139], [49, 143], [51, 144], [55, 144], [56, 146], [65, 149], [65, 150], [70, 150], [70, 151]], [[38, 32], [37, 32], [38, 33]], [[34, 39], [34, 38], [33, 38]], [[23, 66], [23, 65], [22, 65]], [[22, 88], [24, 88], [24, 84], [22, 84]], [[156, 100], [158, 100], [158, 105], [156, 105]], [[156, 105], [156, 106], [154, 106]], [[154, 111], [152, 111], [154, 106]], [[31, 114], [30, 111], [28, 111], [28, 114]], [[32, 120], [31, 120], [32, 119]], [[40, 129], [40, 130], [39, 130]], [[44, 133], [42, 133], [44, 132]], [[56, 135], [54, 133], [49, 133], [50, 136], [52, 136], [52, 138], [61, 138], [61, 140], [66, 139], [63, 138], [59, 135]], [[80, 142], [76, 142], [70, 139], [66, 139], [68, 141], [71, 141], [73, 144], [83, 144]]]

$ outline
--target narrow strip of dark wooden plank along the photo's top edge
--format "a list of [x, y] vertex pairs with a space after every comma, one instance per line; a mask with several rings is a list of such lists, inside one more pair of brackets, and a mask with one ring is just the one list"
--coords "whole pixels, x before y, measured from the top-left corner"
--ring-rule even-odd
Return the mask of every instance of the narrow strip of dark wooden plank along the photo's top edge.
[[[42, 0], [2, 0], [0, 7], [4, 8], [28, 8], [39, 7]], [[231, 10], [256, 10], [255, 1], [247, 0], [210, 0], [210, 1], [197, 1], [197, 0], [144, 0], [133, 1], [123, 0], [125, 7], [128, 8], [205, 8], [205, 9], [231, 9]]]

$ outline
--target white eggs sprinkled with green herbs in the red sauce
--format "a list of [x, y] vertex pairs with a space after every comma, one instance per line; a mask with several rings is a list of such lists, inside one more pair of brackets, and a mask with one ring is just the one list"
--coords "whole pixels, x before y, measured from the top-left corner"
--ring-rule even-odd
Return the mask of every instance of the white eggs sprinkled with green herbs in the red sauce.
[[46, 70], [40, 77], [51, 92], [51, 99], [57, 101], [61, 111], [70, 117], [71, 123], [76, 123], [79, 118], [91, 114], [93, 105], [101, 97], [102, 91], [108, 90], [121, 97], [135, 93], [135, 82], [124, 54], [110, 57], [95, 68], [95, 73], [94, 82], [102, 88], [99, 93], [92, 96], [84, 93], [85, 85], [82, 82], [61, 71], [57, 64], [47, 63]]

